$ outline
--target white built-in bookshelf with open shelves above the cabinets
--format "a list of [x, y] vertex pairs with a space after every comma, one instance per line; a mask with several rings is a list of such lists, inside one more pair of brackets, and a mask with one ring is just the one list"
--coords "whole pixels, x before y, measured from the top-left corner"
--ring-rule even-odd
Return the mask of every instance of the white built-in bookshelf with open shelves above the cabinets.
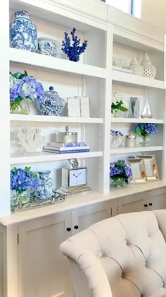
[[[31, 166], [32, 170], [51, 170], [53, 187], [60, 187], [61, 168], [68, 166], [68, 158], [77, 158], [80, 165], [88, 168], [88, 185], [96, 192], [110, 192], [109, 168], [110, 161], [115, 161], [134, 154], [155, 154], [160, 179], [166, 179], [165, 172], [165, 89], [163, 83], [163, 46], [162, 33], [158, 29], [132, 18], [132, 30], [127, 28], [129, 16], [114, 11], [101, 1], [91, 1], [94, 10], [87, 11], [85, 6], [68, 1], [30, 1], [11, 0], [4, 4], [0, 25], [3, 42], [0, 45], [1, 67], [1, 163], [0, 172], [0, 215], [10, 214], [10, 170], [13, 166]], [[63, 2], [63, 3], [62, 3]], [[71, 1], [72, 2], [72, 1]], [[73, 5], [73, 10], [71, 6]], [[88, 7], [89, 7], [88, 6]], [[90, 9], [90, 8], [89, 8]], [[92, 7], [91, 7], [92, 9]], [[8, 28], [17, 10], [30, 13], [31, 20], [37, 25], [38, 37], [53, 37], [57, 40], [57, 57], [48, 57], [37, 53], [15, 50], [9, 46]], [[115, 14], [113, 14], [115, 12]], [[8, 15], [9, 20], [8, 21]], [[125, 25], [121, 27], [122, 21]], [[78, 21], [79, 20], [79, 21]], [[139, 26], [137, 24], [139, 23]], [[141, 24], [141, 25], [140, 25]], [[60, 51], [64, 32], [75, 27], [82, 40], [88, 40], [87, 51], [80, 62], [70, 62]], [[139, 28], [139, 29], [138, 29]], [[142, 34], [144, 33], [144, 35]], [[113, 56], [121, 55], [129, 58], [134, 55], [139, 59], [148, 52], [157, 69], [156, 79], [143, 78], [122, 73], [112, 69]], [[66, 98], [86, 95], [90, 98], [91, 117], [68, 117], [64, 110], [60, 117], [46, 117], [32, 108], [30, 115], [10, 115], [9, 113], [9, 69], [12, 71], [26, 70], [29, 75], [43, 83], [45, 90], [53, 86]], [[117, 91], [125, 96], [136, 96], [145, 103], [146, 96], [151, 103], [154, 120], [130, 119], [128, 117], [113, 118], [110, 115], [111, 93]], [[148, 147], [113, 148], [110, 150], [110, 128], [119, 129], [127, 134], [138, 122], [158, 124], [158, 135], [153, 137]], [[21, 148], [10, 145], [10, 135], [23, 127], [41, 129], [46, 142], [53, 141], [56, 132], [64, 132], [65, 126], [71, 132], [77, 132], [79, 141], [86, 141], [90, 146], [89, 153], [72, 153], [56, 155], [37, 153], [23, 155]], [[134, 187], [132, 187], [134, 189]], [[134, 190], [133, 190], [134, 192]]]

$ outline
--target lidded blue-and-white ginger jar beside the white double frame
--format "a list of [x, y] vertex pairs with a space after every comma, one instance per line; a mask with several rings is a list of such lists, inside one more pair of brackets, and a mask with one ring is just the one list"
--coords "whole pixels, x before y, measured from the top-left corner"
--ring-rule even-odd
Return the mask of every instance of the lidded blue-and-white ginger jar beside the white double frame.
[[65, 100], [59, 97], [58, 92], [53, 91], [53, 87], [49, 87], [49, 91], [45, 92], [43, 103], [39, 107], [41, 115], [60, 115], [65, 107]]

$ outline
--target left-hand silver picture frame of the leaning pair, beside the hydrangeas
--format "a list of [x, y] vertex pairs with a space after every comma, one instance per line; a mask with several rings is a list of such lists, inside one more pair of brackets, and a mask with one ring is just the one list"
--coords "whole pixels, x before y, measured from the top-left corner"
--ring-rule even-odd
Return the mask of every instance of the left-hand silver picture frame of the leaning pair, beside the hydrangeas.
[[130, 182], [141, 184], [147, 182], [146, 166], [144, 160], [141, 158], [128, 158], [127, 163], [132, 168], [132, 177]]

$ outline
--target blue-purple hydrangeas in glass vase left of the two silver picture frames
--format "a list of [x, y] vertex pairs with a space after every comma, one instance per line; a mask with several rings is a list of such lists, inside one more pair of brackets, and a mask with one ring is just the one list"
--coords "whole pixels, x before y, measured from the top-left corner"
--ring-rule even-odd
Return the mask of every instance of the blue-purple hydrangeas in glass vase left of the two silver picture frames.
[[110, 163], [110, 186], [123, 187], [132, 177], [132, 169], [126, 161]]

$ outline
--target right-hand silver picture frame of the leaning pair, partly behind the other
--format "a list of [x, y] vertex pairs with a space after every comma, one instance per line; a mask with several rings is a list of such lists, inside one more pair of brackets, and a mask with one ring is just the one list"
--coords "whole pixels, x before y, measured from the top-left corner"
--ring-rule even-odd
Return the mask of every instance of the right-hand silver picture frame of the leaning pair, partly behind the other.
[[136, 156], [144, 161], [146, 167], [146, 177], [148, 182], [154, 182], [159, 180], [158, 166], [156, 163], [155, 155], [142, 155]]

